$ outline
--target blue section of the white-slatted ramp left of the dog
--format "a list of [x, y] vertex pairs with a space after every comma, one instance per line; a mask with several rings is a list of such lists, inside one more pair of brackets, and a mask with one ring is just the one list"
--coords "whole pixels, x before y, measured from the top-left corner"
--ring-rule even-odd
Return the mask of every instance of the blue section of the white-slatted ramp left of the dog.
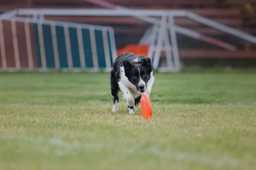
[[[52, 31], [52, 29], [55, 30]], [[112, 31], [112, 34], [110, 34], [110, 31]], [[37, 56], [39, 61], [42, 62], [45, 58], [46, 69], [55, 68], [56, 62], [59, 62], [60, 69], [98, 70], [113, 67], [113, 57], [116, 56], [113, 51], [116, 51], [116, 47], [113, 47], [115, 43], [112, 42], [114, 37], [111, 37], [111, 35], [114, 34], [111, 27], [44, 20], [42, 35], [38, 34], [38, 26], [35, 26], [35, 32]], [[53, 32], [55, 32], [55, 36], [52, 35]], [[39, 43], [40, 36], [43, 36], [43, 48], [42, 44]], [[54, 49], [54, 42], [57, 50]], [[41, 56], [42, 49], [44, 49], [45, 57]], [[43, 64], [38, 63], [38, 65], [42, 67]], [[82, 68], [82, 65], [84, 68]]]

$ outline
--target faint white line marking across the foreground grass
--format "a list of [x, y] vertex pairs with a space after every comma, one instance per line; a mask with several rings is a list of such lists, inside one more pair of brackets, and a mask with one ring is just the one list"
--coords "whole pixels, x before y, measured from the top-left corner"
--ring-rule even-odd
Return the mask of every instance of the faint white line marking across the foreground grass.
[[[239, 168], [239, 162], [238, 159], [233, 158], [210, 158], [203, 155], [197, 155], [197, 154], [190, 154], [190, 153], [183, 153], [183, 152], [173, 152], [173, 151], [163, 151], [160, 150], [157, 147], [151, 147], [147, 150], [139, 150], [140, 145], [136, 145], [134, 147], [118, 147], [118, 146], [108, 146], [106, 144], [100, 144], [100, 143], [87, 143], [87, 142], [79, 142], [79, 141], [73, 141], [73, 142], [65, 142], [61, 138], [50, 138], [45, 139], [43, 137], [34, 138], [32, 136], [24, 136], [24, 135], [2, 135], [0, 136], [0, 139], [22, 139], [29, 142], [44, 142], [45, 144], [55, 145], [61, 147], [61, 150], [59, 148], [56, 148], [53, 153], [57, 156], [67, 156], [67, 155], [73, 155], [76, 154], [76, 151], [81, 151], [81, 149], [84, 149], [85, 152], [97, 152], [102, 151], [103, 149], [113, 150], [116, 153], [122, 153], [122, 154], [136, 154], [136, 155], [152, 155], [152, 156], [158, 156], [162, 157], [164, 159], [172, 159], [172, 160], [178, 160], [178, 161], [189, 161], [189, 162], [197, 162], [200, 164], [207, 164], [211, 165], [213, 167], [221, 167], [221, 166], [229, 166], [234, 168]], [[41, 143], [42, 144], [42, 143]], [[42, 153], [45, 153], [42, 150]]]

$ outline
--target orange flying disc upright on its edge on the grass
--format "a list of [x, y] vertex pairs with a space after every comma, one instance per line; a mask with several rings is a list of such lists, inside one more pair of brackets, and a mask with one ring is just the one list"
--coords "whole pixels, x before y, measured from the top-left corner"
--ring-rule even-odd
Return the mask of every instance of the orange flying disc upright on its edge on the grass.
[[143, 118], [145, 120], [152, 118], [153, 114], [152, 114], [152, 108], [151, 108], [151, 103], [150, 103], [148, 94], [143, 93], [141, 95], [140, 102], [141, 102], [140, 107], [141, 107], [141, 112], [142, 112]]

